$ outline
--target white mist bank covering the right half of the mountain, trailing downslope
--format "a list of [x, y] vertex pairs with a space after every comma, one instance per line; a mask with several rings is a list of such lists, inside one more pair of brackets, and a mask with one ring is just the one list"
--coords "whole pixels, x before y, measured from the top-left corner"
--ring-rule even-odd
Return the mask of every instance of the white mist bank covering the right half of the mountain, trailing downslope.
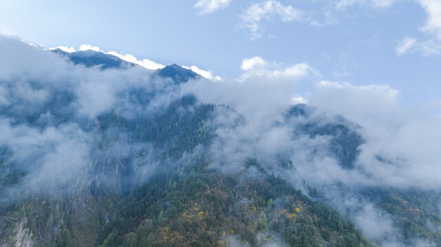
[[[185, 92], [204, 102], [231, 106], [217, 109], [211, 123], [216, 136], [210, 146], [211, 167], [234, 173], [244, 169], [246, 158], [257, 158], [268, 172], [286, 178], [303, 193], [309, 193], [305, 183], [319, 189], [369, 239], [383, 246], [402, 246], [402, 232], [394, 226], [392, 216], [358, 191], [440, 191], [438, 113], [409, 107], [402, 103], [400, 91], [388, 85], [329, 82], [314, 69], [282, 78], [277, 71], [292, 65], [281, 66], [244, 69], [239, 78], [222, 82], [184, 85]], [[314, 85], [308, 93], [301, 91], [305, 84]], [[292, 103], [299, 95], [308, 95], [305, 100], [313, 110], [287, 117], [290, 108], [303, 108]], [[361, 137], [352, 168], [342, 167], [330, 152], [332, 135], [303, 131], [310, 124], [319, 128], [341, 124]], [[294, 167], [280, 165], [286, 160]], [[424, 243], [413, 240], [416, 246]]]

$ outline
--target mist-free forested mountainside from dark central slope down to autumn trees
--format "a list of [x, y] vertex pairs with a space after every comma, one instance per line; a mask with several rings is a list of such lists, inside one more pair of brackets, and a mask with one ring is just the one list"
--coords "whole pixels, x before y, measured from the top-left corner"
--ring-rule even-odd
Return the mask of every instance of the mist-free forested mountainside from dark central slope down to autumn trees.
[[[314, 202], [280, 176], [268, 174], [255, 159], [244, 161], [238, 174], [211, 169], [204, 151], [195, 150], [213, 139], [204, 123], [219, 106], [195, 103], [188, 95], [162, 115], [135, 121], [116, 112], [100, 115], [97, 128], [103, 134], [96, 151], [100, 156], [89, 169], [92, 174], [112, 174], [106, 180], [115, 182], [106, 185], [93, 175], [80, 178], [84, 187], [74, 186], [67, 196], [23, 195], [21, 202], [0, 207], [5, 223], [0, 237], [7, 241], [3, 243], [226, 246], [237, 236], [238, 242], [251, 246], [266, 242], [369, 246], [346, 217]], [[126, 135], [131, 136], [125, 140], [129, 143], [153, 143], [162, 150], [147, 183], [134, 182], [140, 170], [136, 160], [143, 158], [145, 148], [132, 145], [122, 157], [111, 158], [112, 145]], [[2, 156], [3, 164], [14, 163], [7, 157]]]

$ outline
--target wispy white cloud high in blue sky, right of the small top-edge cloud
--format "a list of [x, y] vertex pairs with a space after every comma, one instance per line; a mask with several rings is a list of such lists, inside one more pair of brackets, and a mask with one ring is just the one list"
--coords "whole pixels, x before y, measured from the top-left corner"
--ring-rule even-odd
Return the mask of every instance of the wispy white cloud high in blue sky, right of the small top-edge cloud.
[[248, 28], [251, 31], [252, 39], [261, 37], [260, 29], [262, 21], [302, 21], [303, 11], [292, 7], [292, 5], [282, 5], [279, 1], [266, 1], [254, 3], [246, 9], [240, 16], [240, 27]]

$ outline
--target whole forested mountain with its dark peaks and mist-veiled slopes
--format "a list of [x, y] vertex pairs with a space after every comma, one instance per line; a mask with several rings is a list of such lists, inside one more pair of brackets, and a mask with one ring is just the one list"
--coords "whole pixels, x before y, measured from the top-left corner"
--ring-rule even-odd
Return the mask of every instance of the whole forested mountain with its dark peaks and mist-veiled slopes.
[[25, 56], [0, 59], [2, 247], [441, 246], [440, 191], [346, 182], [372, 175], [343, 116], [204, 102], [176, 64], [5, 51]]

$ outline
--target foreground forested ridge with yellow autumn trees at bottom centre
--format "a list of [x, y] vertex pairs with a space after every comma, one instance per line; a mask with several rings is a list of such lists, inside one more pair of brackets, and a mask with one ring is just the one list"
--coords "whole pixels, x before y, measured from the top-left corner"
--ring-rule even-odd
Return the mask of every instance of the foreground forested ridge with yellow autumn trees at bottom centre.
[[[354, 224], [272, 175], [230, 176], [204, 161], [158, 175], [118, 206], [101, 246], [369, 246]], [[251, 162], [253, 163], [253, 162]], [[187, 174], [188, 173], [188, 174]], [[166, 193], [157, 193], [163, 187]]]

